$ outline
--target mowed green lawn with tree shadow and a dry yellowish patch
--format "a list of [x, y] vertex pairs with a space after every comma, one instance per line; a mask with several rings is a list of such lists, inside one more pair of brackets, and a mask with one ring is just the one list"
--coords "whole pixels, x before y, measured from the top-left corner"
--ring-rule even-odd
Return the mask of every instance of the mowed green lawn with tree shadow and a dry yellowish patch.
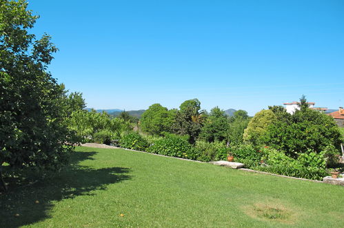
[[0, 227], [344, 227], [340, 186], [123, 149], [72, 160], [2, 194]]

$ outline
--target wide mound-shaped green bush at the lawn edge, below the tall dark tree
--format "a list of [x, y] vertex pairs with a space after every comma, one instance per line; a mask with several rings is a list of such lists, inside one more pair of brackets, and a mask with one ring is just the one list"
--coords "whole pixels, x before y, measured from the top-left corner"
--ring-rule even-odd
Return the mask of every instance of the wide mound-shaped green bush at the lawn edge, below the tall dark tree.
[[196, 160], [199, 153], [192, 147], [185, 137], [178, 135], [166, 135], [156, 140], [147, 150], [150, 153], [157, 153], [177, 158], [188, 158]]

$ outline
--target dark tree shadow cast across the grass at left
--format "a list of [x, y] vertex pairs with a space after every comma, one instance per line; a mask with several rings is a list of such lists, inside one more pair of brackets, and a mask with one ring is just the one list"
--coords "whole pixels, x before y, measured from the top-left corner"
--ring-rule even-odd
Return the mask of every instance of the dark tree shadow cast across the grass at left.
[[94, 195], [94, 190], [105, 190], [108, 184], [130, 179], [128, 168], [92, 169], [79, 165], [82, 160], [93, 160], [92, 156], [96, 153], [74, 152], [72, 164], [54, 178], [1, 193], [0, 227], [32, 225], [50, 218], [49, 211], [54, 206], [52, 201]]

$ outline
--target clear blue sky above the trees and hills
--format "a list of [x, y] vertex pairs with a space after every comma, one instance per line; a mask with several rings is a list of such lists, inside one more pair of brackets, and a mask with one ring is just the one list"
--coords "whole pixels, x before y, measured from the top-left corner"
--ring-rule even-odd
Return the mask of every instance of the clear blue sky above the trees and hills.
[[344, 106], [344, 1], [31, 0], [49, 68], [88, 107]]

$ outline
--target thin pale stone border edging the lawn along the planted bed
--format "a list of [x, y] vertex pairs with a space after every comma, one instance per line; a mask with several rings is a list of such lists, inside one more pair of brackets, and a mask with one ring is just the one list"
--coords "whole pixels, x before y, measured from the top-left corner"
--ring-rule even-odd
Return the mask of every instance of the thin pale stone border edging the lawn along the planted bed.
[[[125, 148], [121, 148], [121, 147], [117, 147], [117, 146], [108, 146], [106, 144], [85, 143], [85, 144], [81, 144], [81, 146], [92, 147], [92, 148], [101, 148], [101, 149], [123, 149], [123, 150], [127, 150], [127, 151], [134, 151], [134, 152], [139, 152], [139, 153], [148, 153], [148, 154], [152, 154], [152, 155], [158, 155], [158, 156], [165, 157], [165, 158], [176, 158], [176, 157], [171, 157], [171, 156], [167, 156], [167, 155], [161, 155], [161, 154], [156, 154], [156, 153], [149, 153], [149, 152], [145, 152], [145, 151], [135, 151], [135, 150], [132, 150], [132, 149], [125, 149]], [[214, 162], [214, 161], [211, 161], [211, 162], [201, 162], [201, 161], [191, 160], [191, 159], [186, 159], [186, 158], [176, 158], [176, 159], [190, 161], [190, 162], [205, 163], [205, 164], [212, 164]], [[278, 176], [278, 177], [281, 177], [281, 178], [290, 178], [290, 179], [294, 179], [294, 180], [307, 180], [307, 181], [310, 181], [310, 182], [332, 184], [330, 182], [323, 182], [321, 180], [310, 180], [310, 179], [305, 179], [305, 178], [295, 178], [295, 177], [290, 177], [288, 175], [280, 175], [280, 174], [275, 174], [275, 173], [267, 173], [267, 172], [264, 172], [264, 171], [256, 171], [256, 170], [253, 170], [253, 169], [241, 168], [241, 169], [238, 169], [238, 170], [242, 170], [242, 171], [246, 171], [246, 172], [251, 172], [251, 173], [265, 174], [265, 175], [275, 175], [275, 176]]]

